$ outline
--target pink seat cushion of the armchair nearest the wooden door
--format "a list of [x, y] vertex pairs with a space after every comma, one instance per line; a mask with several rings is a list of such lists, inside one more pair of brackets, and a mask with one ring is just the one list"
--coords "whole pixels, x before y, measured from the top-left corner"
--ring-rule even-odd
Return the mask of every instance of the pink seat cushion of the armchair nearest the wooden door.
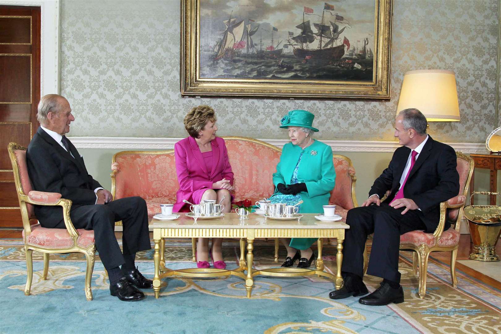
[[[40, 224], [31, 226], [32, 232], [25, 239], [25, 231], [23, 230], [23, 239], [27, 244], [43, 247], [43, 248], [71, 248], [73, 247], [73, 238], [68, 233], [66, 228], [45, 228]], [[94, 231], [77, 229], [78, 239], [77, 244], [80, 247], [87, 248], [94, 243]]]

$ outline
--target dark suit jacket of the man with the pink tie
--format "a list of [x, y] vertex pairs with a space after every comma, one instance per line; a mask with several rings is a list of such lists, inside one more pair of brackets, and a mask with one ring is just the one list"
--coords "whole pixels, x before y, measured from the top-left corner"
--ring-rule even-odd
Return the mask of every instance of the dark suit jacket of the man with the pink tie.
[[[391, 202], [400, 187], [400, 177], [410, 152], [405, 146], [395, 150], [388, 168], [374, 181], [369, 196], [378, 194], [379, 198], [383, 198], [385, 192], [391, 189], [391, 194], [383, 203]], [[459, 193], [456, 166], [454, 149], [429, 137], [405, 182], [404, 197], [412, 199], [421, 209], [427, 232], [435, 231], [438, 226], [440, 202]]]

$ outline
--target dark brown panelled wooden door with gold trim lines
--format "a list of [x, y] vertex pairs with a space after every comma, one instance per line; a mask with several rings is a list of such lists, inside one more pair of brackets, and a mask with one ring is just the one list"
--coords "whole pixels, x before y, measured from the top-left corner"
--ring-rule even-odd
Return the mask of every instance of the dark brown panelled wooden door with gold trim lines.
[[9, 142], [28, 146], [40, 101], [40, 7], [0, 6], [0, 227], [22, 227]]

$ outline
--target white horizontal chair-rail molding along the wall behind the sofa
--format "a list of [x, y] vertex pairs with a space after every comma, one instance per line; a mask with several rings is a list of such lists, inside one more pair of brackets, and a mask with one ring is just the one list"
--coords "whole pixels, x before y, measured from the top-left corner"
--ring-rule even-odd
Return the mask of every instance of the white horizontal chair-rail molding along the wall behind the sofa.
[[[99, 137], [99, 136], [69, 136], [77, 148], [91, 149], [123, 149], [123, 150], [169, 150], [182, 138], [159, 137]], [[282, 147], [289, 142], [288, 139], [257, 138], [272, 145]], [[365, 140], [365, 139], [320, 139], [332, 147], [335, 152], [393, 152], [398, 145], [397, 141], [390, 140]], [[465, 154], [488, 154], [485, 143], [446, 143], [456, 151]]]

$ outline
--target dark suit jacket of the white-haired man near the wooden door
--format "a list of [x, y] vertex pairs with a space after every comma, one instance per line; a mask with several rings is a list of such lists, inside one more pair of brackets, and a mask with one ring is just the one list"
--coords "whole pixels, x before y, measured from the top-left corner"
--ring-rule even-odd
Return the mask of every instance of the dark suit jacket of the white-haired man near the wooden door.
[[[84, 159], [70, 143], [71, 156], [42, 128], [38, 128], [26, 153], [28, 174], [33, 189], [57, 192], [71, 199], [71, 209], [96, 203], [94, 189], [101, 187], [85, 168]], [[35, 214], [44, 227], [54, 227], [63, 220], [60, 206], [35, 205]]]

